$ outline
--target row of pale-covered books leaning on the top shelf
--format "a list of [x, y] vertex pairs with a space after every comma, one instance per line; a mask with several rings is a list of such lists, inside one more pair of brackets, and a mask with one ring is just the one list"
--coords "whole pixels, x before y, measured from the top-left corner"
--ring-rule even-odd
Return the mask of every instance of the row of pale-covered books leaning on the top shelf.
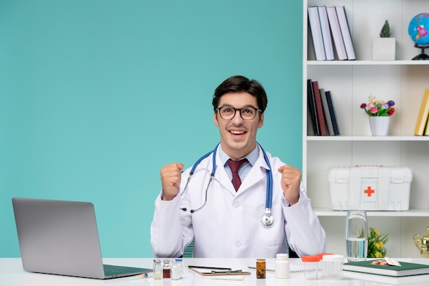
[[344, 6], [308, 7], [308, 22], [316, 60], [356, 60]]

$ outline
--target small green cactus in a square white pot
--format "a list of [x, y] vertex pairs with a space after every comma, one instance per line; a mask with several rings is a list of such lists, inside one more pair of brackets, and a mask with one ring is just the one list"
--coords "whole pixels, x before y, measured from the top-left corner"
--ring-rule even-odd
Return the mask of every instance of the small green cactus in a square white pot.
[[391, 38], [389, 21], [384, 21], [380, 38], [372, 40], [372, 60], [395, 60], [395, 38]]

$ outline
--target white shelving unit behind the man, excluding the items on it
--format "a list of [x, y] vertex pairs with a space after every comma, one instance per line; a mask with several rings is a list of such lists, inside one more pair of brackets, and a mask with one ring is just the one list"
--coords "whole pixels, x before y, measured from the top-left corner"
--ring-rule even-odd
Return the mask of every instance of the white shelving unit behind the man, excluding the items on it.
[[[307, 8], [344, 5], [356, 60], [317, 61], [308, 30]], [[328, 169], [332, 166], [386, 165], [410, 167], [409, 211], [368, 212], [369, 226], [389, 233], [390, 257], [422, 257], [413, 234], [429, 226], [429, 136], [414, 136], [425, 88], [429, 88], [429, 61], [411, 60], [420, 53], [408, 36], [408, 23], [429, 12], [426, 0], [304, 0], [303, 52], [303, 167], [312, 206], [327, 234], [327, 251], [345, 254], [345, 211], [332, 211]], [[388, 20], [396, 38], [396, 60], [371, 60], [372, 38]], [[427, 51], [429, 53], [429, 50]], [[340, 136], [313, 136], [307, 109], [307, 79], [331, 91]], [[372, 94], [394, 100], [388, 136], [371, 136], [366, 113], [359, 108]]]

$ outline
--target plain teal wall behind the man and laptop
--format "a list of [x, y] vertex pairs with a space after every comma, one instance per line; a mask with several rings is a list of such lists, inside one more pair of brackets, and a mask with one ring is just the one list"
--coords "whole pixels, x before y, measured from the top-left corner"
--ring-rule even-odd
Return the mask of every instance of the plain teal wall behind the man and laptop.
[[215, 147], [236, 74], [269, 96], [258, 141], [300, 168], [302, 2], [1, 0], [0, 257], [14, 196], [93, 202], [103, 257], [152, 257], [160, 167]]

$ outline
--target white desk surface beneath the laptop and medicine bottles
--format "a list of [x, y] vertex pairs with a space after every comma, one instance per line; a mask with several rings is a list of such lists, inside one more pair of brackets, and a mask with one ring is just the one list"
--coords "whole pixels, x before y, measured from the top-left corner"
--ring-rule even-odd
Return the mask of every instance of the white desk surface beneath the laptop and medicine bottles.
[[[151, 268], [153, 259], [103, 259], [106, 264], [125, 265], [134, 267]], [[399, 259], [400, 261], [409, 261], [429, 265], [429, 259]], [[275, 259], [267, 259], [267, 269], [273, 268]], [[428, 275], [408, 276], [393, 278], [387, 276], [358, 274], [355, 272], [344, 272], [344, 278], [340, 281], [329, 281], [323, 278], [318, 280], [305, 280], [304, 274], [291, 274], [290, 279], [276, 279], [274, 272], [267, 271], [266, 279], [256, 279], [254, 269], [249, 269], [249, 265], [256, 265], [256, 259], [184, 259], [184, 265], [201, 265], [232, 267], [252, 272], [251, 275], [245, 275], [243, 281], [223, 281], [213, 280], [203, 277], [195, 272], [185, 268], [184, 278], [175, 281], [163, 279], [154, 281], [153, 278], [140, 278], [137, 276], [114, 278], [109, 280], [97, 280], [89, 278], [77, 278], [69, 276], [58, 276], [49, 274], [29, 273], [23, 270], [21, 259], [19, 258], [0, 258], [0, 286], [101, 286], [101, 285], [144, 285], [144, 286], [210, 286], [210, 285], [237, 285], [237, 286], [369, 286], [376, 283], [378, 286], [390, 285], [413, 285], [427, 286]], [[291, 259], [291, 270], [302, 268], [300, 259]]]

